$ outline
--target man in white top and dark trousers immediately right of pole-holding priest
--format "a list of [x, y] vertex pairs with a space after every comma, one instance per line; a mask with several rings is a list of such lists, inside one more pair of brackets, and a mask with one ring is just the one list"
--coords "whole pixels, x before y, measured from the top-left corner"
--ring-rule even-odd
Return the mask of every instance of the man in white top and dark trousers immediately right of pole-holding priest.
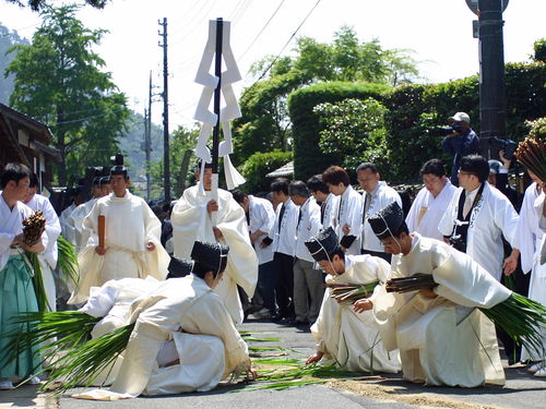
[[275, 270], [273, 266], [273, 248], [262, 249], [260, 244], [275, 224], [273, 205], [266, 199], [247, 195], [240, 190], [233, 192], [235, 201], [247, 214], [250, 242], [258, 256], [257, 292], [263, 300], [263, 309], [254, 312], [254, 318], [271, 318], [276, 313], [275, 306]]

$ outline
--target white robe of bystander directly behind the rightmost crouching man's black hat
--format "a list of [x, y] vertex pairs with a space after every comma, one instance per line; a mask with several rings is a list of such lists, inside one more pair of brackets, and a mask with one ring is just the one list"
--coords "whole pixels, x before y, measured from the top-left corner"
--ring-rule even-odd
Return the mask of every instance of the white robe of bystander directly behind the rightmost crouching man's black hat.
[[[363, 202], [359, 209], [360, 218], [363, 218], [364, 203], [366, 201], [367, 194], [368, 193], [365, 192], [361, 197]], [[402, 199], [400, 197], [400, 194], [391, 187], [388, 187], [385, 182], [379, 182], [376, 190], [371, 192], [370, 206], [368, 208], [368, 212], [366, 213], [366, 222], [361, 228], [361, 248], [364, 250], [384, 253], [384, 248], [381, 245], [381, 241], [373, 233], [371, 225], [368, 222], [368, 217], [373, 216], [376, 213], [378, 213], [392, 202], [396, 202], [400, 208], [402, 208]], [[360, 254], [360, 251], [358, 251], [357, 254]]]

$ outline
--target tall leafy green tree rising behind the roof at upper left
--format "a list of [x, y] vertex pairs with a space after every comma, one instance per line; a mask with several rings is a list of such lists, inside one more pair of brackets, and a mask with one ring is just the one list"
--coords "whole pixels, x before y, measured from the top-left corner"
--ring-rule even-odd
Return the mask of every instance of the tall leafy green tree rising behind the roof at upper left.
[[32, 45], [11, 48], [17, 55], [5, 70], [15, 74], [10, 104], [47, 123], [57, 137], [60, 185], [87, 166], [108, 165], [130, 117], [124, 94], [100, 71], [105, 62], [92, 49], [107, 32], [85, 28], [78, 10], [46, 7]]

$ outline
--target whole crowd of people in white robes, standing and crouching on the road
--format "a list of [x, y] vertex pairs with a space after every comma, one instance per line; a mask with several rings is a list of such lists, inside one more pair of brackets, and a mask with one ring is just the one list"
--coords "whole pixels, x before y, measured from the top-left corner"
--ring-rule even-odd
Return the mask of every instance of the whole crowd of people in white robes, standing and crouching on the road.
[[[230, 374], [252, 378], [236, 329], [245, 320], [310, 328], [317, 352], [307, 363], [403, 371], [427, 385], [503, 384], [500, 339], [509, 364], [532, 361], [529, 369], [546, 376], [546, 357], [522, 350], [478, 310], [509, 297], [503, 284], [512, 275], [515, 291], [546, 302], [544, 182], [529, 172], [533, 183], [519, 215], [510, 159], [477, 155], [466, 113], [450, 121], [442, 148], [453, 155], [453, 173], [446, 176], [440, 159], [426, 161], [411, 207], [371, 163], [355, 169], [359, 189], [345, 169], [330, 166], [307, 182], [275, 179], [258, 197], [214, 192], [212, 167], [200, 161], [195, 187], [152, 208], [129, 192], [120, 160], [94, 180], [91, 201], [76, 196], [57, 217], [36, 194], [36, 177], [10, 164], [0, 195], [1, 334], [16, 312], [37, 311], [24, 249], [38, 253], [50, 311], [68, 299], [68, 308], [103, 317], [93, 336], [135, 323], [122, 362], [109, 373], [110, 390], [86, 398], [209, 390]], [[29, 246], [22, 219], [37, 209], [47, 227]], [[57, 280], [56, 289], [59, 234], [78, 251], [80, 279]], [[437, 286], [410, 296], [385, 290], [389, 279], [417, 273], [434, 275]], [[342, 285], [372, 289], [346, 302], [332, 297]], [[5, 337], [0, 341], [3, 349]], [[194, 362], [182, 353], [190, 349]], [[0, 370], [0, 388], [38, 365], [36, 350], [22, 351]], [[205, 381], [189, 382], [190, 373]]]

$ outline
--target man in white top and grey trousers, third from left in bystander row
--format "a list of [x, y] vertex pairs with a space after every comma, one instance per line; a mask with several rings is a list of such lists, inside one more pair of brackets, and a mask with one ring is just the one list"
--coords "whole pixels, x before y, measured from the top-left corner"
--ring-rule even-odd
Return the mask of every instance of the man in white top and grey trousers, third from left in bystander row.
[[322, 296], [324, 294], [322, 272], [313, 268], [314, 258], [305, 245], [307, 240], [319, 233], [320, 207], [304, 182], [299, 180], [292, 182], [288, 189], [292, 201], [299, 206], [294, 263], [294, 309], [296, 320], [293, 325], [308, 326], [309, 323], [312, 324], [317, 321]]

